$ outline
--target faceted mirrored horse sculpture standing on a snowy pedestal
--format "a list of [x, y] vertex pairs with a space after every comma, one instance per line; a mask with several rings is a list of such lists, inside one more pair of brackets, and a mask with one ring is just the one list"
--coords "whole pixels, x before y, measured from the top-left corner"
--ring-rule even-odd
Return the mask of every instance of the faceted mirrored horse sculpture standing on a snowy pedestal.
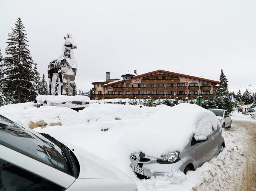
[[65, 43], [62, 47], [61, 55], [57, 59], [52, 60], [48, 65], [50, 95], [73, 94], [76, 76], [76, 61], [73, 49], [76, 49], [76, 44], [69, 33], [64, 39]]

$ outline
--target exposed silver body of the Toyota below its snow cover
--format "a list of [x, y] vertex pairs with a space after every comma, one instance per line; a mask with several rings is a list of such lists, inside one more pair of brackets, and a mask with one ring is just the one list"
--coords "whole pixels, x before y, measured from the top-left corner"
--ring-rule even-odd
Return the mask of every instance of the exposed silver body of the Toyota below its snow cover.
[[172, 169], [180, 170], [186, 174], [187, 171], [195, 170], [217, 156], [225, 147], [225, 140], [219, 125], [216, 130], [212, 128], [210, 135], [198, 135], [197, 139], [196, 141], [192, 136], [189, 144], [181, 152], [172, 151], [159, 159], [145, 156], [143, 152], [133, 153], [130, 156], [131, 167], [141, 179], [164, 176]]

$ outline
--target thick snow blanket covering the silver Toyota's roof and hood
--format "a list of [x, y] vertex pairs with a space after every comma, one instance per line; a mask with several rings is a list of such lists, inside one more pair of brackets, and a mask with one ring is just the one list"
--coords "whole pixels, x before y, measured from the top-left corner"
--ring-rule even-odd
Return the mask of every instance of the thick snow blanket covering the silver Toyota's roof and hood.
[[182, 103], [161, 109], [126, 132], [120, 146], [127, 153], [143, 152], [160, 157], [182, 151], [194, 135], [210, 135], [219, 125], [216, 115], [195, 104]]

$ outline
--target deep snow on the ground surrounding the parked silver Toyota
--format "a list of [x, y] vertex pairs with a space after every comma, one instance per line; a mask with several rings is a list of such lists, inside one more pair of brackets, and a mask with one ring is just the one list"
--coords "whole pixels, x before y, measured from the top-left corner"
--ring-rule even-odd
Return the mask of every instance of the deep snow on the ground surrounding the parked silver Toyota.
[[[248, 132], [236, 120], [240, 120], [240, 123], [256, 122], [248, 115], [240, 113], [232, 113], [232, 129], [223, 130], [226, 148], [217, 158], [187, 175], [174, 171], [168, 176], [148, 180], [140, 180], [135, 176], [129, 167], [130, 153], [125, 153], [125, 149], [120, 148], [119, 141], [131, 127], [166, 107], [168, 106], [140, 107], [95, 103], [78, 113], [69, 108], [34, 108], [33, 103], [26, 103], [0, 107], [0, 114], [26, 127], [31, 121], [44, 120], [48, 124], [61, 122], [62, 126], [46, 126], [33, 130], [78, 145], [108, 160], [130, 176], [139, 191], [239, 190], [243, 181], [241, 172], [246, 168], [246, 144], [241, 140], [246, 140]], [[101, 129], [108, 131], [100, 131]]]

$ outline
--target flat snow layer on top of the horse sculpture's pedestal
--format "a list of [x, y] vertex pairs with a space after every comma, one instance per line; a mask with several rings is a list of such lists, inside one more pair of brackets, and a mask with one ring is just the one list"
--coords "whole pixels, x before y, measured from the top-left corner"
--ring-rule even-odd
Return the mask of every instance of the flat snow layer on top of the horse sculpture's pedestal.
[[63, 103], [63, 102], [72, 102], [72, 101], [85, 101], [89, 102], [90, 98], [84, 95], [37, 95], [36, 101], [43, 102], [47, 101], [48, 103]]

